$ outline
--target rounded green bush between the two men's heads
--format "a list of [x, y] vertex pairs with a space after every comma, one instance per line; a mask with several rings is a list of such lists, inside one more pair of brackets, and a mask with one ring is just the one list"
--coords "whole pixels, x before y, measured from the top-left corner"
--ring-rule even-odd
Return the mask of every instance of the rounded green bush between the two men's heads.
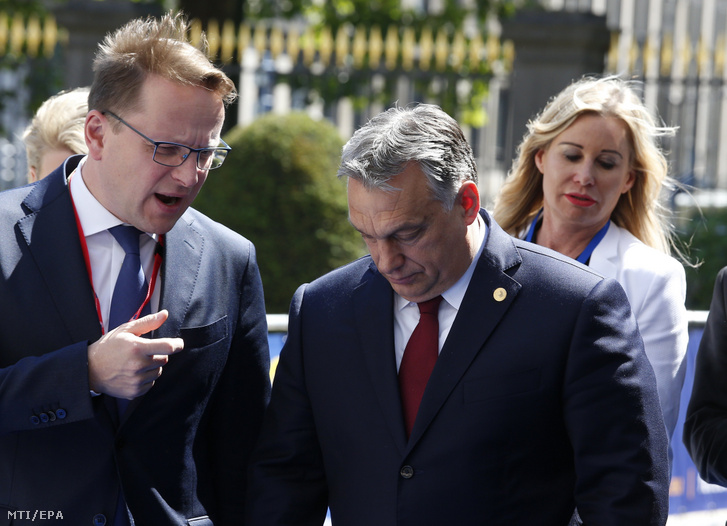
[[348, 223], [343, 141], [327, 121], [268, 114], [225, 137], [225, 164], [195, 207], [255, 243], [268, 313], [287, 313], [295, 289], [365, 253]]

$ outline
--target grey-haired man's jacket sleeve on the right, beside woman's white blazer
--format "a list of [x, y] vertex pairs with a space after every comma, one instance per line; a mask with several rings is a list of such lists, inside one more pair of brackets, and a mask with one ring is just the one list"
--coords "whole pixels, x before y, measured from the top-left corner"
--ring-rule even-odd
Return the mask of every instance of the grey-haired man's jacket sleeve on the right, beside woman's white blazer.
[[667, 437], [653, 370], [623, 289], [600, 282], [584, 301], [563, 388], [583, 523], [663, 525]]

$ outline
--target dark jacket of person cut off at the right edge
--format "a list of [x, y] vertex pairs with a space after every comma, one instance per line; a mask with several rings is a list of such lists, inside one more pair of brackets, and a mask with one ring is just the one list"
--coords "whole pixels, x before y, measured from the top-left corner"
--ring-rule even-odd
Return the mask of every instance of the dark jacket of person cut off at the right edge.
[[702, 478], [727, 486], [727, 267], [714, 284], [683, 440]]

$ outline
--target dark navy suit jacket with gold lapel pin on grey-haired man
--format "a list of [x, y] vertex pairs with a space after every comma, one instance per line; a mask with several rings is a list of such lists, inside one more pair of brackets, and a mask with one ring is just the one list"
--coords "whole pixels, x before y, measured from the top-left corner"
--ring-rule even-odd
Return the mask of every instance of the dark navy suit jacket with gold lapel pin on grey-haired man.
[[389, 283], [365, 257], [299, 288], [249, 526], [318, 526], [326, 506], [342, 526], [566, 526], [576, 506], [586, 525], [666, 522], [666, 432], [623, 289], [483, 216], [408, 441]]

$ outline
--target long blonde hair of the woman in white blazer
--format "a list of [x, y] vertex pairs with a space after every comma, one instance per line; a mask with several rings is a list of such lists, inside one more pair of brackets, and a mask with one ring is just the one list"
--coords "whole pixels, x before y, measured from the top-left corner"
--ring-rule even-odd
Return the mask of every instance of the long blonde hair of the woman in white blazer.
[[662, 190], [676, 183], [668, 176], [666, 157], [659, 137], [676, 128], [657, 125], [637, 95], [633, 82], [618, 77], [584, 77], [561, 91], [528, 123], [528, 132], [517, 149], [502, 190], [495, 202], [494, 217], [512, 235], [520, 235], [543, 206], [543, 174], [535, 155], [584, 114], [615, 117], [626, 124], [631, 146], [633, 187], [621, 195], [611, 220], [657, 250], [669, 253], [674, 245]]

